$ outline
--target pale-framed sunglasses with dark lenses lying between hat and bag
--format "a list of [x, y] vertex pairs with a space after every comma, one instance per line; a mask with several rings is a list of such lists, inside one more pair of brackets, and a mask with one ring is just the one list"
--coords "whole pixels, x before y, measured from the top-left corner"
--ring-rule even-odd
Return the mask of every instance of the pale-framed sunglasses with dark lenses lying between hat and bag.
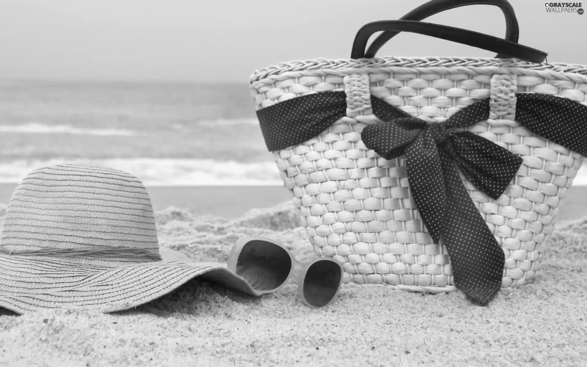
[[298, 284], [299, 297], [311, 308], [329, 305], [343, 277], [338, 261], [316, 257], [302, 263], [283, 245], [265, 237], [239, 239], [232, 246], [227, 267], [259, 293], [275, 292], [292, 279]]

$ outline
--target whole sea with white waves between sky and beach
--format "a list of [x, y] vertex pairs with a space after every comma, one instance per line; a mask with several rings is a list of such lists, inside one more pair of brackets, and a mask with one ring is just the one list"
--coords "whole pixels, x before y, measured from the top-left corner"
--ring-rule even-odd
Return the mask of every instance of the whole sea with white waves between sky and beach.
[[282, 186], [246, 82], [0, 80], [0, 183], [76, 161], [147, 186]]

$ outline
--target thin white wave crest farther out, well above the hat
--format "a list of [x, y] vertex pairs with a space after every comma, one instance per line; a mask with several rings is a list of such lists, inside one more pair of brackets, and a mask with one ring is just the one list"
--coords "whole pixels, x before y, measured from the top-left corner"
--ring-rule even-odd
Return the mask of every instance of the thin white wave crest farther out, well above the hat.
[[139, 132], [134, 130], [122, 129], [93, 129], [89, 127], [75, 127], [71, 125], [50, 125], [42, 123], [26, 123], [19, 125], [0, 126], [2, 133], [23, 133], [23, 134], [84, 134], [84, 135], [101, 135], [101, 136], [132, 136]]

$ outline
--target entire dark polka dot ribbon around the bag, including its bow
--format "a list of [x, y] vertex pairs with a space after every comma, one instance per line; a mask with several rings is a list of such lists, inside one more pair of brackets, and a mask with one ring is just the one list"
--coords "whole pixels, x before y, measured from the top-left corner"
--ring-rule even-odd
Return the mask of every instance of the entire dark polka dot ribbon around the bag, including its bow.
[[[385, 159], [405, 156], [410, 190], [433, 240], [448, 250], [454, 282], [485, 305], [500, 289], [504, 252], [458, 175], [501, 196], [522, 159], [463, 127], [487, 120], [489, 99], [461, 109], [444, 123], [426, 123], [371, 96], [384, 123], [365, 127], [365, 146]], [[317, 112], [317, 113], [316, 113]], [[305, 95], [257, 112], [270, 151], [305, 142], [346, 114], [344, 92]], [[518, 93], [515, 120], [532, 132], [587, 156], [587, 106], [557, 96]]]

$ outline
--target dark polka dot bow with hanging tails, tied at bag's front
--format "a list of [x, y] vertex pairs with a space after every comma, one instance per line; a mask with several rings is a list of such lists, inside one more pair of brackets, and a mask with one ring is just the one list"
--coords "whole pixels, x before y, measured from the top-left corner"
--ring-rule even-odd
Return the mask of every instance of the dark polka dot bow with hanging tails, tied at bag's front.
[[[454, 283], [468, 297], [487, 304], [500, 289], [504, 251], [485, 224], [458, 176], [497, 199], [522, 159], [483, 137], [457, 129], [487, 120], [489, 100], [474, 103], [444, 123], [426, 123], [372, 100], [387, 123], [367, 126], [361, 137], [385, 159], [405, 155], [411, 194], [434, 243], [443, 239]], [[395, 117], [398, 114], [403, 117]]]

